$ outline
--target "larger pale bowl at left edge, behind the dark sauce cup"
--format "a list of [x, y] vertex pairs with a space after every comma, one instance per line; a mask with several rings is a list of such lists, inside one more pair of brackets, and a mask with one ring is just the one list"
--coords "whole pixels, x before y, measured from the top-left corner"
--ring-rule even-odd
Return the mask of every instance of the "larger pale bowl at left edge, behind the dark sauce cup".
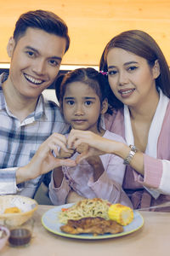
[[[38, 204], [34, 199], [22, 195], [0, 195], [0, 206], [0, 224], [17, 226], [31, 218]], [[20, 212], [14, 212], [14, 209]]]

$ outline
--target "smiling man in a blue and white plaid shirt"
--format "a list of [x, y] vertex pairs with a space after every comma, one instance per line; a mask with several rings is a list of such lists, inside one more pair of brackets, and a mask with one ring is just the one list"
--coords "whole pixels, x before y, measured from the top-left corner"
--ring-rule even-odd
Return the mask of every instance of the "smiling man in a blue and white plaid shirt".
[[68, 28], [54, 13], [29, 11], [16, 22], [7, 48], [9, 74], [0, 76], [0, 195], [33, 197], [43, 176], [23, 166], [53, 132], [67, 130], [42, 91], [54, 82], [69, 44]]

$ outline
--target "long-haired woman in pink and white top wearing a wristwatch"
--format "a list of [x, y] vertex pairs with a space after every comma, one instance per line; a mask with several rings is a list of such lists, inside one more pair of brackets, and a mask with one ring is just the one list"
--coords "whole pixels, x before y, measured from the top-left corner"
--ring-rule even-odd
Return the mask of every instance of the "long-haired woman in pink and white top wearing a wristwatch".
[[134, 208], [169, 201], [170, 73], [161, 49], [145, 32], [122, 32], [106, 45], [100, 70], [107, 75], [108, 101], [115, 108], [112, 116], [105, 114], [105, 127], [127, 144], [80, 131], [71, 131], [68, 144], [77, 147], [86, 141], [122, 157], [127, 166], [123, 189]]

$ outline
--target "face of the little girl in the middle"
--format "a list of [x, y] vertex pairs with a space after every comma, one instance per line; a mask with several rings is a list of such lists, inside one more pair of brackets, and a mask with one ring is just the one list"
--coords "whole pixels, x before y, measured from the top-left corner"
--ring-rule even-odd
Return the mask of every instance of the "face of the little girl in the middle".
[[102, 106], [95, 91], [82, 82], [66, 85], [63, 97], [63, 114], [73, 129], [99, 133], [97, 125], [100, 113], [107, 110], [107, 102]]

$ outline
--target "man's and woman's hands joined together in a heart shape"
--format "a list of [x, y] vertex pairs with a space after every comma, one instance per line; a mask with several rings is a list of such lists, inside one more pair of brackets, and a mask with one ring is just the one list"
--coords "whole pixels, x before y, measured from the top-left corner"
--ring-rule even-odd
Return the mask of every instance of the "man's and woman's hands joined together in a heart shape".
[[[104, 151], [99, 149], [102, 148], [101, 138], [92, 131], [71, 130], [68, 138], [59, 133], [52, 134], [40, 145], [37, 153], [26, 165], [25, 169], [30, 173], [30, 176], [26, 178], [35, 178], [59, 166], [77, 166], [84, 159], [105, 154]], [[77, 159], [72, 160], [71, 156], [76, 152], [78, 153]], [[20, 179], [17, 182], [22, 181]]]

